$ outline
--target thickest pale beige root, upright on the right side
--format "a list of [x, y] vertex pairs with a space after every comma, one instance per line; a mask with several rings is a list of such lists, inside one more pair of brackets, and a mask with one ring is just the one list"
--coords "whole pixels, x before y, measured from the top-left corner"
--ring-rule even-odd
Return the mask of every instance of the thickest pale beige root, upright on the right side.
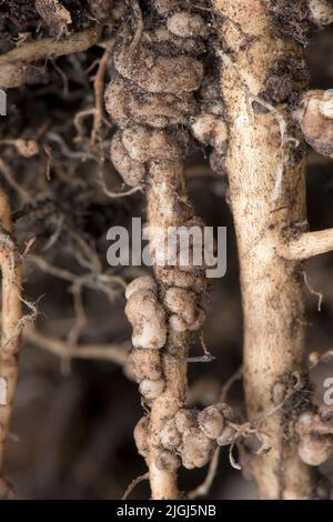
[[309, 396], [302, 393], [300, 269], [281, 255], [285, 230], [302, 230], [306, 223], [303, 143], [287, 109], [259, 98], [273, 66], [289, 60], [290, 53], [301, 62], [303, 51], [273, 32], [269, 2], [214, 0], [213, 6], [222, 16], [221, 89], [230, 122], [225, 168], [241, 263], [246, 408], [251, 422], [263, 419], [261, 432], [271, 446], [268, 453], [251, 455], [250, 472], [261, 499], [310, 499], [315, 495], [315, 473], [299, 458], [283, 404], [279, 408], [290, 395], [292, 414], [294, 389], [300, 388], [301, 408]]

